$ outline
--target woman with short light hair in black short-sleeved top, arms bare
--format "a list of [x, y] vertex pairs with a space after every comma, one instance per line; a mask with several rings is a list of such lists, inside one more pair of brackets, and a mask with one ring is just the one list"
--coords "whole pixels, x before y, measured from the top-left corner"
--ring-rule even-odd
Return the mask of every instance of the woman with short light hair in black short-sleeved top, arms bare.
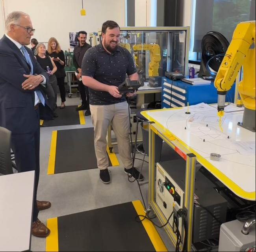
[[48, 97], [50, 107], [54, 112], [54, 117], [58, 117], [58, 115], [55, 112], [57, 107], [56, 102], [57, 102], [58, 87], [57, 87], [57, 78], [54, 74], [57, 71], [57, 67], [54, 61], [52, 60], [52, 58], [46, 55], [46, 48], [44, 44], [42, 43], [37, 44], [35, 50], [37, 52], [37, 55], [35, 56], [35, 58], [37, 59], [39, 65], [44, 70], [46, 70], [46, 72], [49, 75], [50, 82], [48, 83], [45, 89], [45, 93]]

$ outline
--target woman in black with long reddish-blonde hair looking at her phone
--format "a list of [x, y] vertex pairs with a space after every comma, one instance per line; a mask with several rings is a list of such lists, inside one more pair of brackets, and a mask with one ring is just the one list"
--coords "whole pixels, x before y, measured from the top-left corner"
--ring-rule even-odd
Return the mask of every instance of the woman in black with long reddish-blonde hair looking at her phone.
[[59, 92], [61, 96], [61, 106], [60, 109], [65, 108], [65, 101], [66, 101], [66, 90], [65, 90], [65, 83], [64, 79], [66, 76], [65, 72], [65, 56], [63, 50], [61, 50], [59, 43], [56, 38], [51, 37], [48, 41], [48, 48], [46, 53], [52, 58], [54, 61], [57, 71], [55, 73], [57, 77], [57, 83], [59, 86]]

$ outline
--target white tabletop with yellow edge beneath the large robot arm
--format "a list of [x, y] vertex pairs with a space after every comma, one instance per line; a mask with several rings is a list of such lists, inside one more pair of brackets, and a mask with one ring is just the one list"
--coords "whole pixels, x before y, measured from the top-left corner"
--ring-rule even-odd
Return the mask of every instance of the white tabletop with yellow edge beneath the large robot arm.
[[[226, 110], [221, 120], [223, 132], [217, 109], [207, 104], [190, 106], [191, 114], [185, 113], [187, 107], [142, 113], [156, 122], [163, 135], [173, 135], [194, 153], [197, 161], [236, 195], [255, 200], [255, 133], [237, 126], [243, 118], [241, 108], [231, 104]], [[220, 154], [221, 159], [211, 160], [211, 153]]]

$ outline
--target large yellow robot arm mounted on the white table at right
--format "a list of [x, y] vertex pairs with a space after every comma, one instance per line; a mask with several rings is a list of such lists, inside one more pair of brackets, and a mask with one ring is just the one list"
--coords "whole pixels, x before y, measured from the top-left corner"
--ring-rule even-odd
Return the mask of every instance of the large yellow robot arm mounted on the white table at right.
[[[243, 65], [243, 80], [238, 91], [245, 112], [241, 126], [255, 131], [255, 21], [240, 22], [217, 72], [214, 85], [218, 93], [218, 115], [223, 116], [226, 92], [232, 87]], [[252, 117], [254, 115], [254, 123]], [[254, 125], [252, 125], [254, 124]]]

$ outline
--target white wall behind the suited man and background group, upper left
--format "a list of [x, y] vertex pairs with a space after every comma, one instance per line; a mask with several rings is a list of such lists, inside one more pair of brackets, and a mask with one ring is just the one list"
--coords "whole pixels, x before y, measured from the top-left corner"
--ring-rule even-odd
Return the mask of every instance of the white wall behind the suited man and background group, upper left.
[[[106, 20], [114, 20], [119, 26], [125, 24], [125, 0], [83, 1], [85, 16], [80, 15], [81, 0], [2, 1], [6, 16], [12, 11], [28, 13], [36, 30], [33, 37], [39, 42], [47, 42], [50, 37], [56, 37], [64, 51], [69, 48], [70, 31], [85, 30], [89, 34], [98, 31]], [[0, 12], [0, 37], [5, 33], [3, 23], [4, 17]]]

